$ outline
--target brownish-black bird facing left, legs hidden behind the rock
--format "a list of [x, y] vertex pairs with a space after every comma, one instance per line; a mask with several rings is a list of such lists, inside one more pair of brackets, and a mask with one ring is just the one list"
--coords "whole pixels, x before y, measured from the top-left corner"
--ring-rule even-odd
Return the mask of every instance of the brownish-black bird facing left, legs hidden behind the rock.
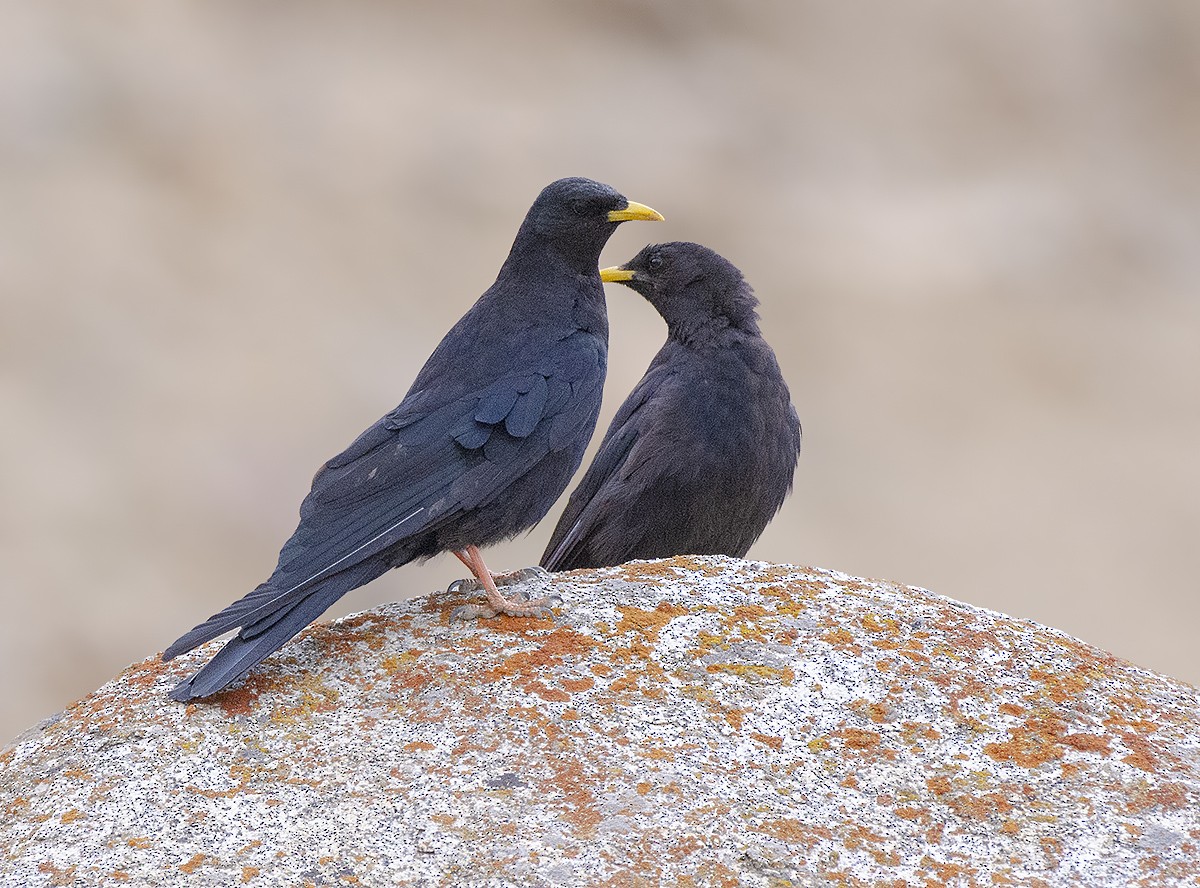
[[667, 341], [608, 426], [541, 565], [740, 558], [784, 504], [800, 451], [758, 300], [732, 263], [698, 244], [647, 246], [600, 277], [646, 296]]

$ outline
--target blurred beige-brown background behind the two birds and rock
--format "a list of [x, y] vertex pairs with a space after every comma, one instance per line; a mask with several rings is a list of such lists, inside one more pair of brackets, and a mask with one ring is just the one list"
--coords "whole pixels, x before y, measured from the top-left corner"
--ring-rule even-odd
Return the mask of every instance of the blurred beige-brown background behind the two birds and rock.
[[[751, 557], [1200, 680], [1198, 97], [1192, 0], [6, 4], [0, 742], [265, 578], [563, 175], [667, 217], [606, 264], [762, 299], [804, 452]], [[601, 430], [664, 337], [608, 304]]]

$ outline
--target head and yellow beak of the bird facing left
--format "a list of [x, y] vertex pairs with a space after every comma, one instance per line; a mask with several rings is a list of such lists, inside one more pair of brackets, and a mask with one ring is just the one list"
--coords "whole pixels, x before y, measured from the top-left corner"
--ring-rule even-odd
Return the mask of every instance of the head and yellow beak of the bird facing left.
[[758, 300], [750, 284], [733, 263], [700, 244], [649, 244], [624, 265], [602, 269], [600, 280], [641, 293], [658, 308], [672, 334], [685, 334], [713, 320], [758, 329]]

